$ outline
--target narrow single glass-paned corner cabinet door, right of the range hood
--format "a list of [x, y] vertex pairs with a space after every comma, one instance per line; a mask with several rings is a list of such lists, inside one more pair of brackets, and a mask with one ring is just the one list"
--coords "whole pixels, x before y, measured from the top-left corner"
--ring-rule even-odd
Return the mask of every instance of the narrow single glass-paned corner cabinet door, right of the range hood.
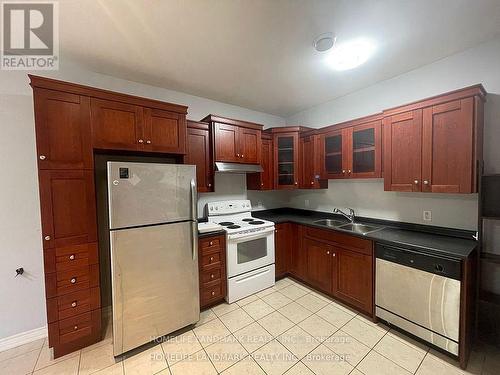
[[274, 135], [274, 168], [277, 189], [296, 189], [299, 185], [299, 137], [297, 133]]

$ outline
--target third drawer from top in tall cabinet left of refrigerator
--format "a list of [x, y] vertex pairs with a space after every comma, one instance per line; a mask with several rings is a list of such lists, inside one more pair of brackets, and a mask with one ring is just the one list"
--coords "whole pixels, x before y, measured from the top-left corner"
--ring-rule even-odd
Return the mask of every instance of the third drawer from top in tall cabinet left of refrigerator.
[[50, 298], [47, 300], [47, 320], [52, 323], [98, 309], [100, 305], [99, 287]]

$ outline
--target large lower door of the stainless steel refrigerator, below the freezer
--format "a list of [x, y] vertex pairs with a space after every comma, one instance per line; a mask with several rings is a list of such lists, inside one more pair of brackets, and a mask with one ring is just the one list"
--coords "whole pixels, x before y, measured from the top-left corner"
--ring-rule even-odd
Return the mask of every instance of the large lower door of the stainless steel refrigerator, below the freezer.
[[116, 230], [110, 236], [115, 356], [199, 320], [193, 222]]

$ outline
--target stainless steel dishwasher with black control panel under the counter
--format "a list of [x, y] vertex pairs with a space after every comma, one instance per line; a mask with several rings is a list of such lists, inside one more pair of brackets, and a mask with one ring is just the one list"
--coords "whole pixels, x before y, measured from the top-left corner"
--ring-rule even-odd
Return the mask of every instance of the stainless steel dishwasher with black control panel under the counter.
[[375, 315], [458, 355], [461, 262], [377, 244]]

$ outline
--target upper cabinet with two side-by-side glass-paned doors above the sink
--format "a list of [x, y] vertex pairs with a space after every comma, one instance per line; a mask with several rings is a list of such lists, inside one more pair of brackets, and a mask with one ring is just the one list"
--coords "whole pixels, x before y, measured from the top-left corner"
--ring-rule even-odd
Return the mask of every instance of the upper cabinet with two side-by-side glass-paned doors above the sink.
[[329, 127], [321, 137], [322, 177], [377, 178], [382, 174], [380, 116]]

